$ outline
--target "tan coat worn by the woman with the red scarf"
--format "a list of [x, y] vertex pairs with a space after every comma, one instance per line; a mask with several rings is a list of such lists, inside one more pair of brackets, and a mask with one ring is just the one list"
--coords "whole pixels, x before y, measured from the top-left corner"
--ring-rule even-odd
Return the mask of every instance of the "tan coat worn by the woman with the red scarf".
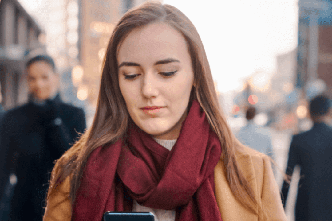
[[[240, 169], [251, 184], [260, 202], [265, 206], [269, 221], [287, 221], [280, 192], [267, 156], [250, 148], [236, 153]], [[234, 197], [226, 180], [225, 166], [220, 160], [214, 169], [215, 193], [223, 221], [261, 221], [257, 215], [244, 208]], [[69, 177], [47, 201], [43, 221], [70, 221]]]

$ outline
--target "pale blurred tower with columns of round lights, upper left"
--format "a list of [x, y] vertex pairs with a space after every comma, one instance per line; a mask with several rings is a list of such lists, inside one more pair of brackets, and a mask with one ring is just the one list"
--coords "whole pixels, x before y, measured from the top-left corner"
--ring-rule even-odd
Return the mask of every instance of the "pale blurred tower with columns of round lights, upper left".
[[48, 0], [46, 22], [47, 53], [54, 58], [58, 72], [62, 76], [60, 84], [62, 99], [75, 104], [77, 97], [73, 91], [71, 70], [81, 60], [80, 2], [82, 1]]

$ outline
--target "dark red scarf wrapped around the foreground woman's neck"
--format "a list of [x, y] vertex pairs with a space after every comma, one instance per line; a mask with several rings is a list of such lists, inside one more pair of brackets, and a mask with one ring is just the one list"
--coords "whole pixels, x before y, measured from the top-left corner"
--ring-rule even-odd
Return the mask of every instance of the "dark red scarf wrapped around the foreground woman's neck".
[[106, 211], [131, 211], [135, 199], [150, 208], [176, 208], [176, 221], [221, 221], [213, 173], [221, 149], [196, 100], [171, 151], [131, 124], [125, 142], [91, 153], [72, 220], [101, 221]]

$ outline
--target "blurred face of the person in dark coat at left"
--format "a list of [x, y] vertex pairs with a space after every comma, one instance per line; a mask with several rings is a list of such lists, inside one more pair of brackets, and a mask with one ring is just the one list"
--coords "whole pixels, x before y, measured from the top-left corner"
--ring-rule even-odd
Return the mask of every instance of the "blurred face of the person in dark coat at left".
[[39, 100], [55, 95], [59, 77], [52, 67], [44, 61], [31, 64], [28, 68], [28, 86], [30, 93]]

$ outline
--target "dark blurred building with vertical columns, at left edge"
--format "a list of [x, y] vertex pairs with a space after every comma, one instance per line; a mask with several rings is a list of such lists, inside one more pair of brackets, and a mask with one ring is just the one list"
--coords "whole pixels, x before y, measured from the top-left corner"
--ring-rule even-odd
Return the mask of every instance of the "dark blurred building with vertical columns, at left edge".
[[0, 2], [0, 82], [2, 104], [11, 108], [27, 101], [23, 76], [27, 51], [41, 47], [42, 30], [17, 0]]

